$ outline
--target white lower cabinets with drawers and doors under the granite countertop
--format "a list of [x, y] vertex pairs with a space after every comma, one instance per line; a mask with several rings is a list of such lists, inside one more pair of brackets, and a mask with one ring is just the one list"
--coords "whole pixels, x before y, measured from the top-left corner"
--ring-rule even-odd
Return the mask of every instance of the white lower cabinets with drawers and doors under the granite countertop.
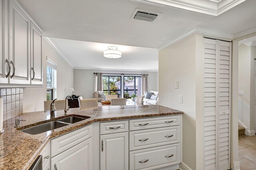
[[176, 170], [181, 134], [181, 115], [94, 123], [51, 139], [43, 170]]

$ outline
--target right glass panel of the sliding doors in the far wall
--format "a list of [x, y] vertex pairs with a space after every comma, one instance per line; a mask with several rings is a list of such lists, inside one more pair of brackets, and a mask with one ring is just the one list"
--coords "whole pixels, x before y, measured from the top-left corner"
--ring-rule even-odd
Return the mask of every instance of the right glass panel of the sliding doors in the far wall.
[[141, 77], [124, 76], [124, 98], [130, 99], [132, 94], [141, 95]]

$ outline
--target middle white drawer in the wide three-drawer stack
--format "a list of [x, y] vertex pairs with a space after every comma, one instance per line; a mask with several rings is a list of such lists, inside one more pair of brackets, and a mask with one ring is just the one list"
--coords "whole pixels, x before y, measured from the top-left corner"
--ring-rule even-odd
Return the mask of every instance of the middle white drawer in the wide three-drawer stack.
[[130, 132], [130, 150], [158, 147], [180, 142], [180, 126]]

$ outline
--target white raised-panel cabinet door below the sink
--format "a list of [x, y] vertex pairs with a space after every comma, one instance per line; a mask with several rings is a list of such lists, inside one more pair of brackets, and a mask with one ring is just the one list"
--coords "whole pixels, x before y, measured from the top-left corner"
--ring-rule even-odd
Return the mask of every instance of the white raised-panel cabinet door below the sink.
[[92, 170], [92, 138], [51, 158], [51, 170]]

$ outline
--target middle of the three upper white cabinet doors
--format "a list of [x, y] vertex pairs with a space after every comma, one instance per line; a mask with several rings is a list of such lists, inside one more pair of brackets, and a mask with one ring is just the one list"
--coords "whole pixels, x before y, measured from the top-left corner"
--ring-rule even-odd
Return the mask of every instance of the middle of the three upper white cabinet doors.
[[10, 84], [30, 84], [30, 19], [10, 0]]

